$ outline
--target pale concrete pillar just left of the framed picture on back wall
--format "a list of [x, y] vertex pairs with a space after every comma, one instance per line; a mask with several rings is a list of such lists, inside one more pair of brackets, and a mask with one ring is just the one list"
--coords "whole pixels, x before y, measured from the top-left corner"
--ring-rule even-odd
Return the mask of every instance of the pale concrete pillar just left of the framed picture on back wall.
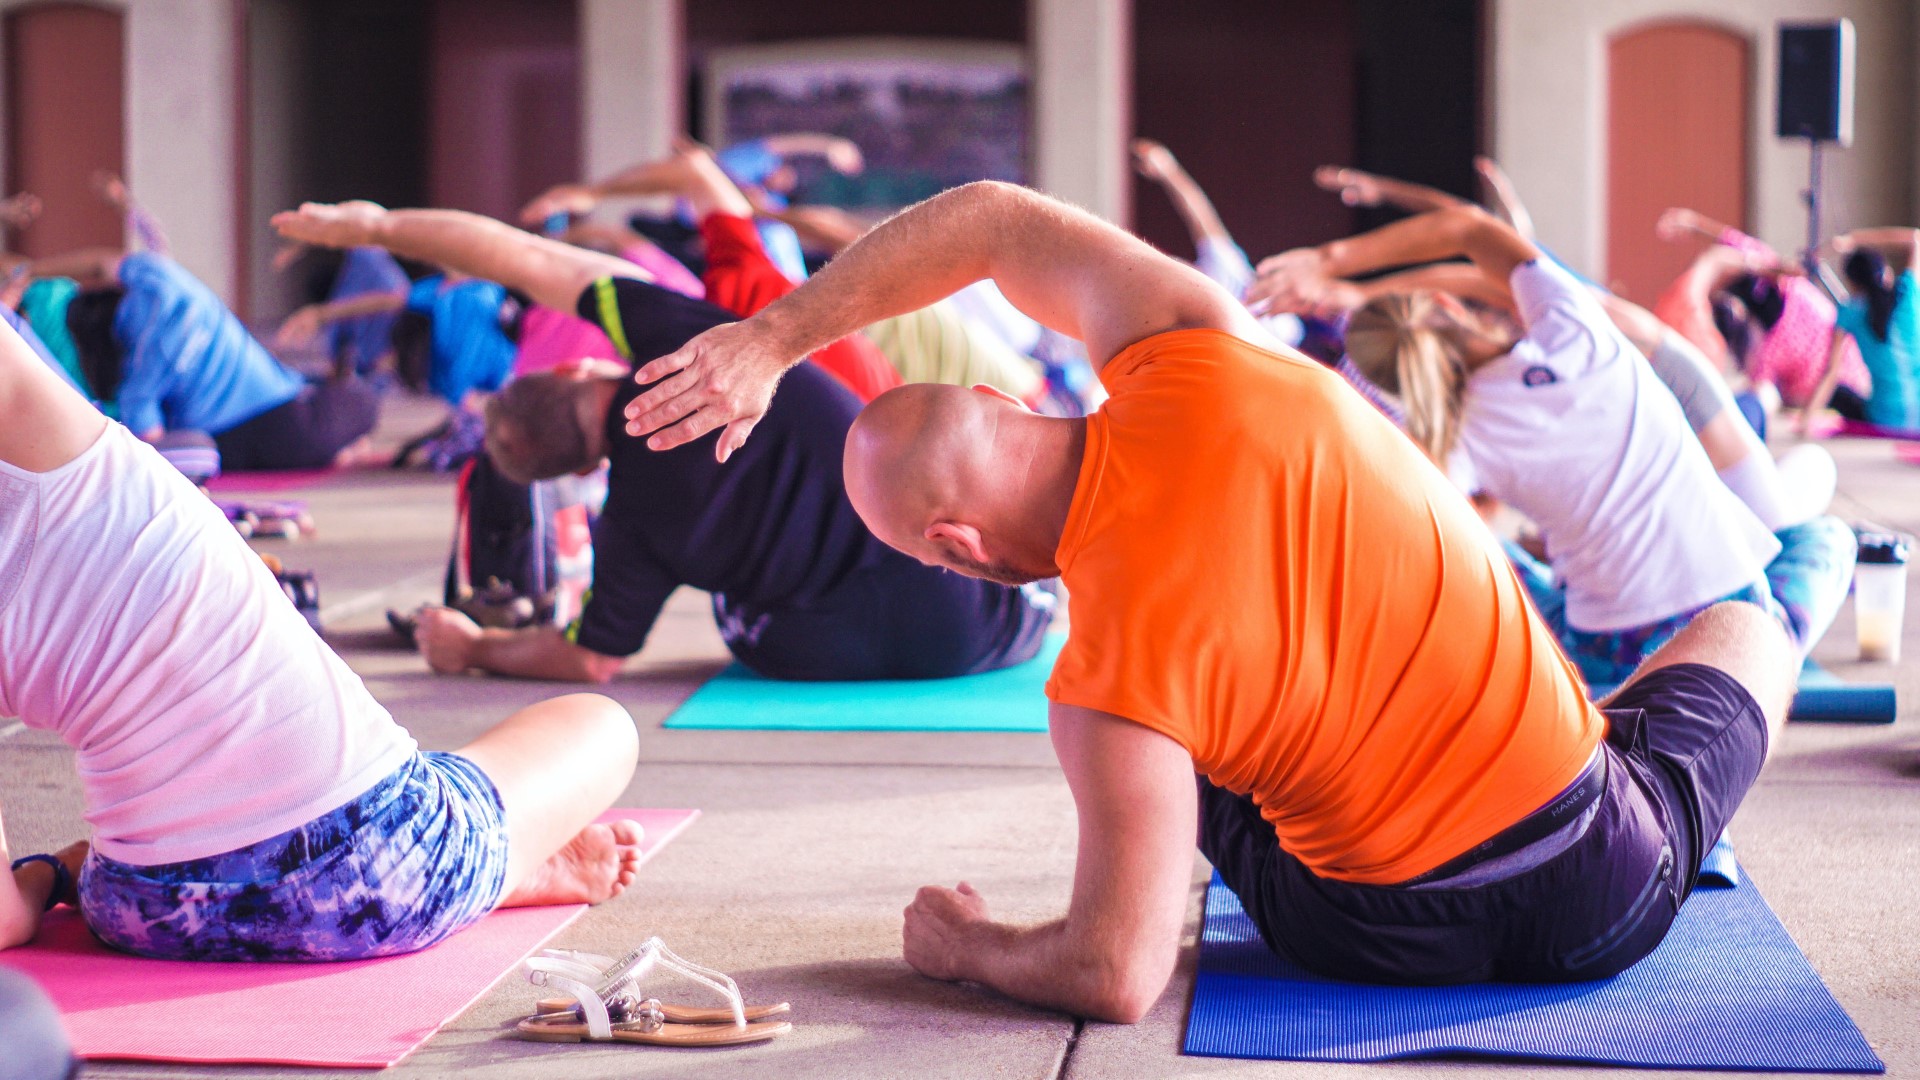
[[580, 0], [580, 156], [588, 177], [659, 158], [685, 131], [682, 0]]

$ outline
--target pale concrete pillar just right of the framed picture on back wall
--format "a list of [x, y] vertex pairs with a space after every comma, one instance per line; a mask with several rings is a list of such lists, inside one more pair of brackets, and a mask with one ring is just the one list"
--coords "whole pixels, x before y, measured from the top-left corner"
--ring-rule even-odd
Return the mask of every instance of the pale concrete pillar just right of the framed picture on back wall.
[[1114, 221], [1133, 221], [1133, 6], [1033, 0], [1033, 183]]

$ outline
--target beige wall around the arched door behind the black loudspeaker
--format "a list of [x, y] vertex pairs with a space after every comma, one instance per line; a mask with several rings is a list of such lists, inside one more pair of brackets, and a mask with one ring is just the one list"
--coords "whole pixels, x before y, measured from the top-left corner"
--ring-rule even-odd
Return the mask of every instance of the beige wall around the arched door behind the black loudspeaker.
[[1753, 42], [1749, 165], [1753, 231], [1782, 252], [1805, 244], [1807, 148], [1774, 138], [1774, 25], [1853, 19], [1859, 40], [1853, 148], [1824, 152], [1824, 223], [1912, 223], [1920, 37], [1912, 0], [1490, 0], [1492, 154], [1513, 175], [1540, 238], [1601, 275], [1607, 208], [1607, 38], [1655, 19], [1705, 19]]

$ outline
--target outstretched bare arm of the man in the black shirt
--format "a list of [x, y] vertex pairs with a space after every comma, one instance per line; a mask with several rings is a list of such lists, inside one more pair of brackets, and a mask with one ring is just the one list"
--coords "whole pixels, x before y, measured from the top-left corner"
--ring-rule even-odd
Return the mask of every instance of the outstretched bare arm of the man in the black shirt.
[[321, 204], [273, 215], [288, 240], [321, 248], [371, 244], [470, 277], [516, 288], [536, 304], [572, 311], [580, 292], [603, 277], [651, 281], [626, 259], [534, 236], [463, 209], [386, 209], [372, 202]]

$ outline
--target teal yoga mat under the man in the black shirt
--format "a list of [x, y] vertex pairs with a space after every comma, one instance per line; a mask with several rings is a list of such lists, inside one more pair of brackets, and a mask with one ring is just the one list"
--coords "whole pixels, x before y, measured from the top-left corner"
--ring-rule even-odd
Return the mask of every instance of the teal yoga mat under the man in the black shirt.
[[1044, 732], [1046, 675], [1066, 644], [1046, 634], [1027, 663], [958, 678], [783, 682], [733, 663], [666, 717], [670, 728], [808, 732]]

